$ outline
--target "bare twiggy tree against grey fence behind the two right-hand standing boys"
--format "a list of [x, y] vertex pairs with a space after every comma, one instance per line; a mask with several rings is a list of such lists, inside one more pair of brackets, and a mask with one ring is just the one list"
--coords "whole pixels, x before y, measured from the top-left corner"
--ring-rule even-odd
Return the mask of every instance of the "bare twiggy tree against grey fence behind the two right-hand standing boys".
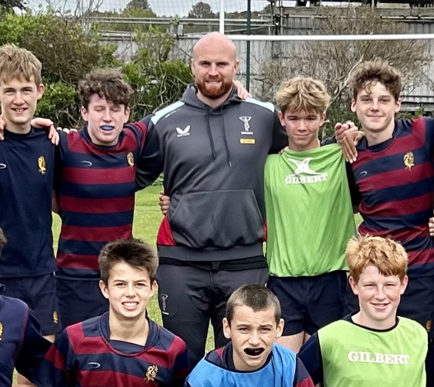
[[[319, 8], [322, 16], [314, 33], [321, 35], [402, 34], [405, 23], [385, 20], [368, 7]], [[280, 43], [278, 43], [280, 44]], [[274, 52], [278, 48], [274, 46]], [[386, 59], [403, 75], [404, 94], [421, 82], [422, 69], [432, 60], [429, 42], [424, 40], [390, 41], [303, 41], [282, 42], [279, 54], [262, 66], [260, 98], [273, 99], [278, 85], [295, 76], [313, 77], [324, 82], [331, 97], [328, 109], [328, 134], [332, 124], [347, 120], [351, 100], [348, 77], [359, 63], [376, 57]]]

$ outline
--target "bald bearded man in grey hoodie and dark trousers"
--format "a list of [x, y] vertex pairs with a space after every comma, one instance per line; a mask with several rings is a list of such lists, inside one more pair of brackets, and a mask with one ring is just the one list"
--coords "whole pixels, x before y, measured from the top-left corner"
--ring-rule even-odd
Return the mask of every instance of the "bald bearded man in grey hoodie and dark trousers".
[[[230, 294], [267, 281], [263, 167], [287, 137], [273, 104], [237, 97], [238, 65], [226, 36], [199, 39], [191, 63], [195, 84], [150, 124], [171, 196], [157, 239], [159, 304], [164, 326], [186, 342], [191, 367], [204, 354], [210, 319], [215, 346], [227, 343], [222, 318]], [[139, 187], [156, 168], [152, 160], [144, 154], [138, 162]]]

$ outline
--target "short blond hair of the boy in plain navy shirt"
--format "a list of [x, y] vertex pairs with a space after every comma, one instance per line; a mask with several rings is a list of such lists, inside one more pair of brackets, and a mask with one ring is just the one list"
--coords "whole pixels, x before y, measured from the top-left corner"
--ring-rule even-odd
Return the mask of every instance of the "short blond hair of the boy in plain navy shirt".
[[42, 64], [29, 50], [19, 48], [14, 44], [0, 47], [0, 81], [5, 83], [12, 79], [30, 82], [36, 85], [42, 83]]

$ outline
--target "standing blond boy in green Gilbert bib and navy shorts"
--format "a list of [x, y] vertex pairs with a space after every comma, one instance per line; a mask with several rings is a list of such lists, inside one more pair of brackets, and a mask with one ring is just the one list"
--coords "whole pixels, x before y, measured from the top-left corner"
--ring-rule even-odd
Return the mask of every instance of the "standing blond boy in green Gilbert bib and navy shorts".
[[[310, 335], [343, 316], [344, 253], [355, 226], [341, 147], [318, 141], [330, 103], [324, 84], [293, 78], [281, 85], [276, 102], [289, 146], [269, 155], [264, 169], [267, 287], [285, 320], [278, 342], [298, 352]], [[306, 227], [308, 219], [318, 227]]]

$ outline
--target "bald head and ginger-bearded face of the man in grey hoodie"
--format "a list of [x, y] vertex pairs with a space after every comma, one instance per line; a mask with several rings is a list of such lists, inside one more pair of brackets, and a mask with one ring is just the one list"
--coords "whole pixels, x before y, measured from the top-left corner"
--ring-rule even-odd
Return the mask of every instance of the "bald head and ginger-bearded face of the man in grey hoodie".
[[224, 102], [232, 90], [238, 64], [235, 46], [224, 35], [212, 33], [201, 38], [191, 62], [197, 97], [210, 106]]

